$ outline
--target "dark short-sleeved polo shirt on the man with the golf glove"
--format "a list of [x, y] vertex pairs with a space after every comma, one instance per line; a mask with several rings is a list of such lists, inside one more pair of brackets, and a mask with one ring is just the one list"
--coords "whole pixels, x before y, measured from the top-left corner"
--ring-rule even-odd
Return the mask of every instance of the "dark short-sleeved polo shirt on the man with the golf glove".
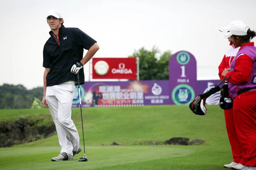
[[[72, 66], [84, 57], [84, 49], [96, 42], [79, 28], [59, 28], [58, 39], [52, 31], [44, 45], [44, 68], [51, 68], [47, 74], [47, 86], [58, 85], [66, 81], [77, 81], [77, 75], [71, 73]], [[79, 71], [79, 82], [84, 84], [84, 68]], [[76, 84], [77, 85], [77, 84]]]

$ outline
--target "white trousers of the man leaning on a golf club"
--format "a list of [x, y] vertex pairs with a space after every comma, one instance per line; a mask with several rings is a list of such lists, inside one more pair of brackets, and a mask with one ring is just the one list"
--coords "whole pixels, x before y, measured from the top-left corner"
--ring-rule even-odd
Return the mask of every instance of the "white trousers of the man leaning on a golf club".
[[79, 134], [71, 119], [71, 108], [76, 85], [73, 81], [46, 88], [45, 99], [55, 123], [61, 152], [73, 155], [79, 149]]

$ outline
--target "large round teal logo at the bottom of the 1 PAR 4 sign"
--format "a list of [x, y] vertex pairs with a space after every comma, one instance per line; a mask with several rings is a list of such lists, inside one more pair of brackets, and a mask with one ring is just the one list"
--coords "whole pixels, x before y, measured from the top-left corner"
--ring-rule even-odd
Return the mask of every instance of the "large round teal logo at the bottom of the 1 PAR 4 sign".
[[172, 91], [172, 101], [176, 105], [188, 105], [195, 98], [195, 91], [190, 85], [177, 85]]

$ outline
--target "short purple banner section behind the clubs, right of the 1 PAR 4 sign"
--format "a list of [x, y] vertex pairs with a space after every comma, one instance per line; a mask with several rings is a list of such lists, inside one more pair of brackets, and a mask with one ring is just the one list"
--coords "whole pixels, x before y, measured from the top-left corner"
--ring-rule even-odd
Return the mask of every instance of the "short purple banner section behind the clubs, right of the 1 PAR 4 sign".
[[[209, 91], [211, 88], [214, 88], [215, 85], [217, 85], [221, 80], [198, 80], [197, 83], [197, 90], [198, 90], [198, 94], [203, 94], [206, 93], [207, 91]], [[224, 85], [224, 83], [223, 83]], [[219, 85], [219, 87], [221, 88], [223, 85]], [[212, 94], [211, 96], [209, 96], [206, 101], [205, 104], [207, 105], [218, 105], [219, 101], [220, 101], [220, 96], [221, 96], [221, 92], [218, 91], [215, 94]]]

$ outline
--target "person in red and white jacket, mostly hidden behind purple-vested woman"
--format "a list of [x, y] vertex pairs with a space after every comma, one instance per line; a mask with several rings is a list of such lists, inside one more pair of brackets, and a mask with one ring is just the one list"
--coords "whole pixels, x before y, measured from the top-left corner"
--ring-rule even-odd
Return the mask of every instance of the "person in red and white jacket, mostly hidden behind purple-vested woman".
[[[224, 31], [221, 28], [219, 30]], [[234, 57], [236, 56], [240, 48], [236, 47], [236, 45], [233, 44], [231, 37], [228, 37], [227, 39], [230, 42], [231, 47], [226, 51], [221, 61], [221, 64], [218, 66], [218, 75], [221, 80], [225, 78], [221, 75], [222, 72], [224, 71], [225, 68], [230, 68], [230, 63], [233, 61]], [[224, 116], [226, 122], [227, 136], [230, 142], [231, 151], [233, 155], [233, 161], [230, 164], [225, 164], [224, 167], [231, 168], [232, 166], [237, 165], [241, 160], [242, 148], [236, 135], [236, 129], [233, 119], [233, 108], [229, 110], [224, 110]]]

